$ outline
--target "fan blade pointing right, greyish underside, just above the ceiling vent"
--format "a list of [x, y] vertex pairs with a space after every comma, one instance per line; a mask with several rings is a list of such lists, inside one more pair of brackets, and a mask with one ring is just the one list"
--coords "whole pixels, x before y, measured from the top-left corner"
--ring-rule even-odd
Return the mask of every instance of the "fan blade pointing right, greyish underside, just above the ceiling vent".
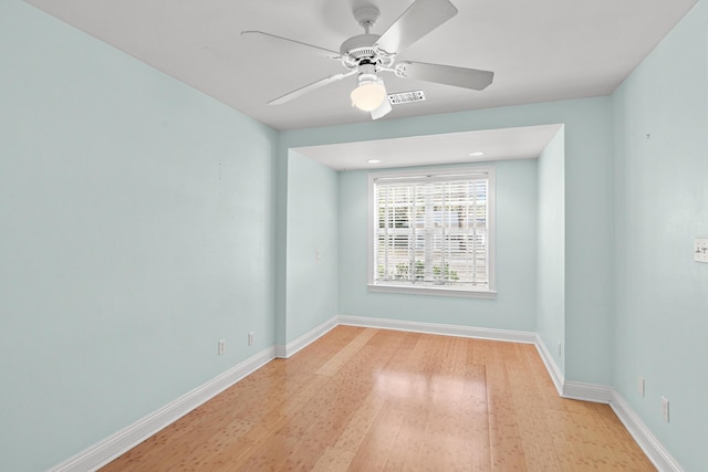
[[494, 73], [490, 71], [426, 64], [425, 62], [399, 62], [396, 64], [396, 75], [404, 78], [417, 78], [473, 91], [485, 90], [494, 78]]

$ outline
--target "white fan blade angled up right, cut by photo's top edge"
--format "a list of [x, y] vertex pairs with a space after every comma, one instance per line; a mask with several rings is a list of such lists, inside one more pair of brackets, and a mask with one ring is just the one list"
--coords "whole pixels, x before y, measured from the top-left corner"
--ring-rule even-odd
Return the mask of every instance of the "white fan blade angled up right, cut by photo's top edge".
[[396, 54], [457, 14], [449, 0], [416, 0], [376, 42], [378, 49]]

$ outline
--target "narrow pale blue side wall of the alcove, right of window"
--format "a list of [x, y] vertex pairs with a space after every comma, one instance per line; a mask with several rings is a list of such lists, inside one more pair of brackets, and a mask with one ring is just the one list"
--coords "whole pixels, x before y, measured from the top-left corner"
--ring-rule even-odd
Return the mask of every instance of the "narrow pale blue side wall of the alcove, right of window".
[[564, 371], [565, 349], [565, 130], [539, 156], [537, 331]]

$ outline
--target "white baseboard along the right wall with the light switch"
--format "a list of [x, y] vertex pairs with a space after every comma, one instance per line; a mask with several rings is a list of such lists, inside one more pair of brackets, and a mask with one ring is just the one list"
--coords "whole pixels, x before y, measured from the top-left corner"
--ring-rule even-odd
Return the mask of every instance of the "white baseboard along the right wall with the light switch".
[[649, 458], [659, 471], [683, 472], [676, 459], [674, 459], [659, 440], [652, 434], [652, 431], [649, 431], [644, 421], [642, 421], [638, 415], [615, 389], [612, 389], [610, 407], [612, 407], [617, 418], [620, 418], [620, 421], [622, 421], [627, 431], [629, 431], [629, 434], [637, 441], [639, 448], [642, 448], [647, 458]]

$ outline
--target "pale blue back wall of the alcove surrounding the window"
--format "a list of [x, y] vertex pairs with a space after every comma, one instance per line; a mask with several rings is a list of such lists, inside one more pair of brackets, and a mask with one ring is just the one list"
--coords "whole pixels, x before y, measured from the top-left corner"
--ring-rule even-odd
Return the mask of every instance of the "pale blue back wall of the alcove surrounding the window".
[[497, 183], [496, 300], [369, 292], [368, 172], [340, 172], [340, 314], [535, 331], [537, 161], [492, 165]]

